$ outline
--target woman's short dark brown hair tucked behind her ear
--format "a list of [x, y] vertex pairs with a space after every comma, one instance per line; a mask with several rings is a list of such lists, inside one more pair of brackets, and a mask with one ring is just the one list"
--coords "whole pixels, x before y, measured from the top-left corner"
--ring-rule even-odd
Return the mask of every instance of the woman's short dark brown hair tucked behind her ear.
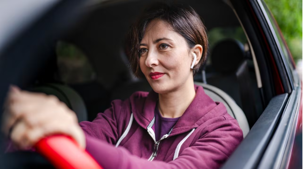
[[145, 10], [142, 17], [131, 29], [131, 56], [130, 64], [135, 76], [142, 76], [139, 66], [139, 47], [148, 24], [155, 19], [168, 23], [174, 31], [186, 39], [189, 48], [201, 45], [203, 48], [201, 60], [193, 68], [195, 75], [206, 60], [208, 38], [206, 28], [200, 16], [190, 6], [156, 4]]

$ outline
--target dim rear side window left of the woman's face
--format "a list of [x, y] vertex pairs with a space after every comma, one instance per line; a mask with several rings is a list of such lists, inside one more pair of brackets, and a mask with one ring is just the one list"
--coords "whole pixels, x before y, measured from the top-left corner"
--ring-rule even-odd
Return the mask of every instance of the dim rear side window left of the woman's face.
[[75, 45], [59, 41], [56, 46], [57, 66], [62, 82], [67, 84], [90, 82], [95, 71], [85, 54]]

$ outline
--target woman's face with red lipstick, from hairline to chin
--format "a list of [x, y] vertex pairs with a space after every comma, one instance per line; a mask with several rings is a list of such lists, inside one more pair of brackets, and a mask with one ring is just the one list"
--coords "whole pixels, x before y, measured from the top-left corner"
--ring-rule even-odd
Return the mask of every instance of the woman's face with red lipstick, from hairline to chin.
[[184, 37], [161, 20], [149, 23], [140, 42], [139, 64], [153, 90], [167, 93], [193, 81], [192, 55]]

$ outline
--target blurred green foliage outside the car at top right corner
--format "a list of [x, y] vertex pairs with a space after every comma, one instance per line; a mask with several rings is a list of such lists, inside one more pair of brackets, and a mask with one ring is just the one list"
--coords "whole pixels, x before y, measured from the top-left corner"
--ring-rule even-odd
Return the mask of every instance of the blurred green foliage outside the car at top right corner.
[[302, 59], [302, 0], [264, 0], [274, 15], [295, 62]]

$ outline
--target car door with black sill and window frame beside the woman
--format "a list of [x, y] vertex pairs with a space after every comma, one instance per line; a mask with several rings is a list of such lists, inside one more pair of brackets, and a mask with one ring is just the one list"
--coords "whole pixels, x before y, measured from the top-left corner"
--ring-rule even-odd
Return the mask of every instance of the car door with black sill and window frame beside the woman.
[[231, 1], [231, 5], [258, 61], [260, 92], [267, 106], [222, 168], [288, 168], [302, 124], [302, 83], [265, 2]]

